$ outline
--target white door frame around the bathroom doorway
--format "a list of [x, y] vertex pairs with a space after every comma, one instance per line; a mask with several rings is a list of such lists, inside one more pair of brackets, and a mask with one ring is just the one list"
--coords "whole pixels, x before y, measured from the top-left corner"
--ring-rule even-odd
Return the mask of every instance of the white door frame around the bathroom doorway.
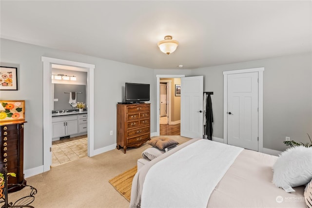
[[41, 57], [43, 62], [43, 172], [50, 170], [52, 148], [52, 67], [51, 64], [79, 67], [87, 72], [88, 103], [88, 156], [94, 156], [94, 64], [81, 63], [51, 57]]

